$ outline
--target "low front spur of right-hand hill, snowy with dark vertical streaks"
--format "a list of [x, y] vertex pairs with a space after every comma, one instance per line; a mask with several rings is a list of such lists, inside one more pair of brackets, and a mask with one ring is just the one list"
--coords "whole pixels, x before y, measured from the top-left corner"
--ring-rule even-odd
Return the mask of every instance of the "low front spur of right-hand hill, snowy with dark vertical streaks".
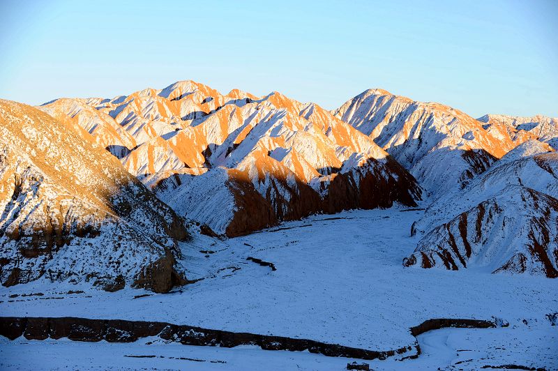
[[557, 226], [557, 199], [512, 185], [426, 234], [403, 264], [557, 278]]

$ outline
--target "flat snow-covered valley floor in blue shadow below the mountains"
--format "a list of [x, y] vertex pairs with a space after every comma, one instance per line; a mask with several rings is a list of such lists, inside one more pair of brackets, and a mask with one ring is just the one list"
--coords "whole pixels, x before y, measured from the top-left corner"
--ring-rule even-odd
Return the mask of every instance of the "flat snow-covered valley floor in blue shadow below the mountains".
[[[415, 338], [409, 327], [426, 319], [497, 317], [510, 326], [431, 331], [418, 337], [424, 352], [418, 359], [370, 363], [375, 369], [403, 365], [430, 368], [437, 363], [448, 367], [458, 361], [492, 356], [495, 358], [490, 362], [467, 361], [455, 367], [474, 369], [515, 363], [558, 368], [558, 326], [551, 326], [547, 317], [558, 312], [557, 281], [527, 275], [491, 275], [470, 269], [404, 268], [402, 259], [414, 250], [417, 242], [416, 237], [409, 236], [411, 225], [422, 213], [398, 208], [347, 211], [315, 215], [226, 241], [202, 236], [183, 244], [182, 250], [188, 278], [204, 280], [170, 294], [128, 288], [107, 293], [89, 285], [51, 284], [42, 280], [2, 287], [0, 315], [156, 320], [372, 350], [413, 345]], [[248, 257], [272, 263], [276, 270], [247, 260]], [[68, 294], [69, 290], [83, 292]], [[43, 295], [27, 296], [37, 293]], [[142, 294], [148, 296], [137, 297]], [[82, 363], [97, 368], [105, 368], [107, 359], [113, 358], [111, 365], [128, 368], [225, 370], [228, 365], [246, 370], [252, 364], [253, 369], [270, 370], [296, 369], [300, 363], [303, 369], [341, 370], [347, 364], [345, 358], [253, 347], [36, 342], [23, 338], [1, 341], [1, 358], [12, 362], [3, 364], [22, 368], [33, 368], [33, 357], [25, 363], [27, 358], [22, 354], [33, 353], [38, 358], [43, 354], [43, 361], [64, 354], [59, 359], [68, 359], [72, 367], [82, 359], [80, 352], [86, 354], [87, 349], [91, 356], [106, 355], [106, 359]], [[125, 354], [167, 358], [130, 358]], [[186, 366], [183, 365], [186, 361], [168, 356], [227, 363], [188, 361], [196, 364]], [[428, 363], [429, 359], [432, 363]], [[43, 368], [49, 367], [43, 363]]]

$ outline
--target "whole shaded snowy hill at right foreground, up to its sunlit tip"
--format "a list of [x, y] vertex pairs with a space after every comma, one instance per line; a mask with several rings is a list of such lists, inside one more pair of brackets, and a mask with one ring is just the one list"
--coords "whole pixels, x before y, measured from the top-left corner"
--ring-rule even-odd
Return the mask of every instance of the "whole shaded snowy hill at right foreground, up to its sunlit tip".
[[530, 140], [430, 205], [405, 266], [558, 277], [558, 153]]

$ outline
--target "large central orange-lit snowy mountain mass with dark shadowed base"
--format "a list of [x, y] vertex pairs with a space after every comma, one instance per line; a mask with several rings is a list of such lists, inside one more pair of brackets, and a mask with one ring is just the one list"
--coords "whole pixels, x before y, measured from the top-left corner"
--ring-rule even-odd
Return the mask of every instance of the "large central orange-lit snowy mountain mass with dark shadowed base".
[[310, 213], [421, 199], [413, 176], [370, 137], [277, 92], [223, 96], [186, 81], [40, 109], [91, 132], [180, 215], [227, 236]]

